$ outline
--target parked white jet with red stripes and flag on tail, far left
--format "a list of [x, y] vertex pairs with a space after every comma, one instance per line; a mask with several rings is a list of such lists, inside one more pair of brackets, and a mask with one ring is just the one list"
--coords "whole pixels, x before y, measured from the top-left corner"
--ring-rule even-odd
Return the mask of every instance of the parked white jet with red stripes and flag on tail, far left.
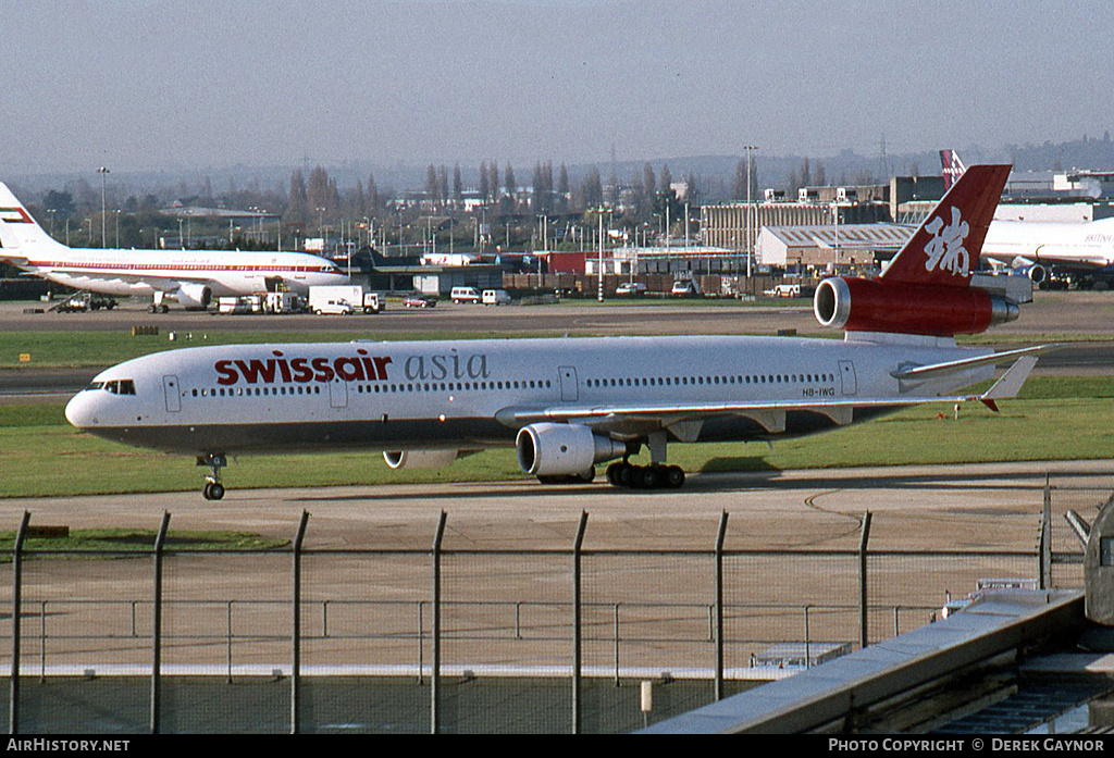
[[304, 294], [314, 285], [349, 280], [333, 262], [305, 253], [67, 247], [48, 235], [3, 184], [0, 260], [67, 287], [117, 297], [150, 296], [152, 313], [166, 313], [166, 299], [205, 308], [214, 297], [251, 295], [280, 282]]

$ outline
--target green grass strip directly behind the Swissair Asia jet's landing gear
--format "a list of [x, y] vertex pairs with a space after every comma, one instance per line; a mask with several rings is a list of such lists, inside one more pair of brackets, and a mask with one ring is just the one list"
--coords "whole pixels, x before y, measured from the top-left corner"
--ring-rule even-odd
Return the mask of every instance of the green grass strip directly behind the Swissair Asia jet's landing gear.
[[[908, 408], [859, 426], [764, 443], [672, 444], [687, 471], [755, 471], [1114, 457], [1110, 377], [1034, 377], [1001, 413], [967, 403]], [[99, 440], [70, 427], [61, 404], [0, 406], [0, 498], [199, 490], [204, 467]], [[939, 415], [942, 414], [942, 417]], [[641, 459], [646, 459], [643, 452]], [[225, 471], [233, 489], [528, 479], [510, 449], [437, 471], [391, 471], [375, 453], [245, 456]]]

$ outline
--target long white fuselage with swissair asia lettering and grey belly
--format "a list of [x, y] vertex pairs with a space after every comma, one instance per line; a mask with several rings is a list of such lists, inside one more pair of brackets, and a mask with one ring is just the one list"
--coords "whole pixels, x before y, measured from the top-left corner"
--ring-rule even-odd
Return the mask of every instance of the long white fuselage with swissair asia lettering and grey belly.
[[[891, 374], [989, 351], [788, 337], [606, 337], [229, 345], [169, 351], [99, 374], [67, 406], [98, 436], [167, 452], [470, 450], [511, 445], [515, 412], [646, 406], [613, 436], [667, 427], [686, 404], [935, 396], [988, 378], [980, 366], [909, 385]], [[685, 442], [808, 434], [900, 407], [709, 414]], [[656, 408], [656, 410], [655, 410]], [[684, 413], [678, 411], [677, 419]]]

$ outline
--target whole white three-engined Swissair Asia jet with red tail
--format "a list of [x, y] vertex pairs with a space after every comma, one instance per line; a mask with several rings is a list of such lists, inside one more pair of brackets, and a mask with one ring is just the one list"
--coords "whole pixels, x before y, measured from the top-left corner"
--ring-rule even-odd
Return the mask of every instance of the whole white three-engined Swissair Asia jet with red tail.
[[[994, 354], [955, 335], [1016, 318], [970, 286], [1008, 166], [975, 166], [873, 280], [836, 277], [814, 311], [846, 338], [605, 337], [229, 345], [169, 351], [101, 372], [66, 407], [75, 426], [197, 456], [224, 495], [228, 454], [384, 451], [392, 467], [448, 465], [514, 445], [543, 481], [676, 488], [668, 442], [771, 440], [902, 406], [1012, 397], [1036, 348]], [[1003, 277], [1005, 278], [1005, 277]], [[1014, 361], [979, 396], [957, 395]], [[628, 457], [647, 445], [649, 465]]]

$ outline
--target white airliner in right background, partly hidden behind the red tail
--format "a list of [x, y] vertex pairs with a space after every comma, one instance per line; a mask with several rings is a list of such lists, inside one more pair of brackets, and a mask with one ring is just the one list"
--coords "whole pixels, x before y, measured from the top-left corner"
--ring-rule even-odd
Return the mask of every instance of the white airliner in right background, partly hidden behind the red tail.
[[[955, 150], [940, 150], [945, 188], [966, 167]], [[1114, 218], [1053, 223], [995, 220], [983, 244], [983, 256], [1040, 284], [1048, 269], [1085, 276], [1114, 275]]]

